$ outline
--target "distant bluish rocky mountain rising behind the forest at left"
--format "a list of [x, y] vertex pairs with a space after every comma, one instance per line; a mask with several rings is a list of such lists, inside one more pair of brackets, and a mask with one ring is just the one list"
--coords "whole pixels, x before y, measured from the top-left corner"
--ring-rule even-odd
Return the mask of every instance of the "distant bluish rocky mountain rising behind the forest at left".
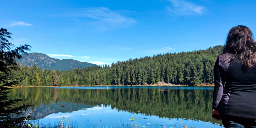
[[40, 66], [41, 69], [48, 69], [50, 67], [51, 70], [57, 70], [58, 68], [60, 71], [97, 66], [92, 63], [80, 62], [73, 59], [55, 59], [41, 53], [22, 55], [22, 59], [17, 59], [17, 62], [20, 66], [24, 66], [25, 64], [27, 66], [33, 66], [36, 63], [36, 66]]

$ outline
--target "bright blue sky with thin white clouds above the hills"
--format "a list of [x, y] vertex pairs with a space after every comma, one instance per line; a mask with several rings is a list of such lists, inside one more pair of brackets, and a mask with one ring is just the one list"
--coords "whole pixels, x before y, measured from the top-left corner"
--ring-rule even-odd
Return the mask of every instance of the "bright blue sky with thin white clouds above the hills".
[[255, 0], [1, 1], [0, 27], [31, 52], [98, 65], [223, 45], [256, 32]]

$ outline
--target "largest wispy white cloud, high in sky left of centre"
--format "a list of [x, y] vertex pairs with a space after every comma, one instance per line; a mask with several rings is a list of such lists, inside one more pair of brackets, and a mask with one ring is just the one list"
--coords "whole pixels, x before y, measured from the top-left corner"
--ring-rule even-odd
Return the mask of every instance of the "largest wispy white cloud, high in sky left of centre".
[[107, 30], [108, 28], [128, 26], [136, 23], [135, 19], [121, 14], [129, 12], [125, 10], [111, 10], [107, 7], [90, 7], [83, 9], [72, 9], [64, 14], [52, 15], [56, 17], [72, 17], [76, 22], [97, 26]]

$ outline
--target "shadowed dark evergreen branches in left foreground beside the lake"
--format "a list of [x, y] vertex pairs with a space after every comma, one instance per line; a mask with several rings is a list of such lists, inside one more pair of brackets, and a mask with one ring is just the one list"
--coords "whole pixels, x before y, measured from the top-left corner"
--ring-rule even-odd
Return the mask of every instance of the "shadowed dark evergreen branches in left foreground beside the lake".
[[6, 29], [0, 28], [0, 127], [12, 127], [21, 123], [24, 118], [18, 115], [28, 107], [27, 104], [14, 107], [22, 99], [10, 100], [7, 96], [9, 87], [20, 81], [11, 74], [20, 70], [15, 60], [20, 59], [21, 54], [27, 54], [25, 51], [30, 51], [30, 46], [26, 44], [13, 49], [14, 45], [7, 39], [12, 39], [11, 35]]

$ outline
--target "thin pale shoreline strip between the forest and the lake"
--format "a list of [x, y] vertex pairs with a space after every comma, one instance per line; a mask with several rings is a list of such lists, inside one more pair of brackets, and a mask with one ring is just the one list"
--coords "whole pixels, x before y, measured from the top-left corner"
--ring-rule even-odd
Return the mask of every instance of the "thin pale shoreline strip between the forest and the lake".
[[[125, 85], [64, 85], [64, 86], [16, 86], [16, 87], [11, 87], [11, 88], [49, 88], [49, 87], [106, 87], [106, 86], [125, 86]], [[126, 86], [131, 86], [131, 85], [126, 85]], [[172, 86], [172, 87], [175, 87], [175, 86], [188, 86], [188, 85], [157, 85], [157, 84], [150, 84], [150, 85], [133, 85], [134, 87], [136, 86], [159, 86], [159, 87], [169, 87], [169, 86]], [[198, 85], [197, 87], [200, 87], [200, 86], [214, 86], [214, 84], [200, 84]], [[192, 86], [191, 86], [192, 87]], [[196, 87], [196, 86], [195, 86]]]

